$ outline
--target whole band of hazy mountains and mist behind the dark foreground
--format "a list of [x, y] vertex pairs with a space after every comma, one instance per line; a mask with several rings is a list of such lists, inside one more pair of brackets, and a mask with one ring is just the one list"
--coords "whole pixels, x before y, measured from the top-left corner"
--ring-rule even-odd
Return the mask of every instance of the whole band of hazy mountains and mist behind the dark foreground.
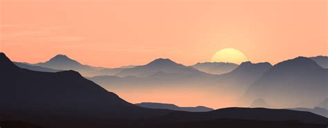
[[[298, 60], [298, 58], [304, 58], [307, 59], [307, 61], [293, 61]], [[204, 99], [208, 97], [208, 95], [211, 95], [211, 99], [213, 100], [206, 102], [217, 102], [217, 104], [220, 104], [220, 102], [233, 101], [238, 102], [236, 106], [248, 107], [248, 105], [256, 99], [264, 99], [273, 107], [278, 108], [317, 107], [322, 100], [327, 98], [324, 93], [324, 91], [327, 90], [327, 84], [325, 84], [327, 80], [324, 80], [324, 78], [327, 77], [327, 73], [315, 72], [321, 72], [320, 70], [327, 72], [325, 71], [327, 57], [308, 57], [309, 59], [307, 57], [298, 58], [288, 60], [289, 62], [293, 61], [293, 64], [289, 63], [283, 66], [279, 66], [282, 62], [275, 66], [267, 62], [257, 64], [243, 62], [240, 65], [206, 62], [197, 63], [193, 66], [184, 66], [170, 59], [159, 58], [143, 66], [100, 68], [80, 64], [75, 60], [71, 60], [66, 55], [57, 55], [44, 63], [15, 64], [21, 68], [28, 68], [34, 71], [58, 72], [62, 70], [75, 70], [87, 79], [100, 84], [105, 89], [115, 91], [125, 99], [133, 102], [156, 101], [156, 99], [150, 96], [150, 93], [147, 95], [147, 93], [143, 93], [144, 91], [152, 91], [153, 93], [158, 91], [158, 93], [163, 95], [161, 98], [166, 99], [165, 102], [172, 102], [172, 100], [170, 100], [171, 98], [165, 98], [164, 95], [178, 95], [179, 92], [188, 94], [188, 92], [198, 90], [194, 92], [194, 96], [197, 96], [199, 99]], [[280, 68], [277, 68], [277, 66]], [[305, 68], [309, 69], [309, 73], [303, 70]], [[315, 69], [315, 71], [312, 71], [311, 69], [313, 68], [317, 68], [318, 70]], [[217, 73], [210, 71], [217, 71]], [[219, 71], [226, 71], [227, 73], [219, 73]], [[261, 84], [262, 87], [255, 87], [258, 86], [256, 84]], [[269, 87], [263, 87], [276, 86], [274, 84], [279, 84], [280, 87], [274, 87], [275, 90], [269, 89]], [[313, 86], [311, 89], [307, 89], [309, 88], [309, 84]], [[128, 93], [131, 90], [139, 93]], [[274, 96], [271, 96], [271, 98], [263, 98], [261, 95], [266, 94], [265, 91], [267, 90], [269, 90], [268, 94], [271, 93], [271, 95], [275, 95], [280, 91], [285, 92], [284, 96], [288, 95], [288, 97], [285, 98], [284, 101], [288, 104], [272, 102], [275, 98]], [[302, 91], [301, 93], [307, 93], [309, 96], [303, 101], [297, 101], [295, 99], [298, 99], [298, 94], [300, 94], [298, 93], [299, 91]], [[295, 94], [291, 93], [289, 96], [287, 92], [293, 92]], [[205, 93], [206, 95], [204, 95]], [[140, 100], [133, 100], [137, 95]], [[269, 96], [266, 95], [266, 97]], [[240, 98], [240, 100], [237, 100], [238, 98]], [[183, 99], [181, 100], [190, 100], [189, 102], [192, 102], [192, 100], [188, 98], [188, 95], [183, 95]], [[294, 103], [291, 104], [292, 102], [289, 101]], [[203, 104], [203, 102], [201, 102], [201, 104]], [[205, 105], [208, 106], [210, 104]], [[220, 106], [222, 107], [224, 105]]]

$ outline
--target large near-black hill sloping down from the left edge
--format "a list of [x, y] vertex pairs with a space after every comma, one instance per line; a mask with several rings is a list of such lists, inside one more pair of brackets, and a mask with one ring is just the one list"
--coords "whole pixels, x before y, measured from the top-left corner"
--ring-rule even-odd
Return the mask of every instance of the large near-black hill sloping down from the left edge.
[[46, 73], [19, 68], [3, 53], [0, 85], [0, 116], [5, 120], [60, 127], [57, 122], [75, 126], [74, 121], [81, 120], [127, 120], [167, 113], [130, 104], [75, 71]]

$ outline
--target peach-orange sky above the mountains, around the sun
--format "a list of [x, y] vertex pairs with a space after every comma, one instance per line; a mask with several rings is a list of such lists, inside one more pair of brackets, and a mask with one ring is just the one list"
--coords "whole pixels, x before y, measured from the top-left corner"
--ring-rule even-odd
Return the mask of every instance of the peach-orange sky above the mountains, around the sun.
[[327, 1], [0, 0], [0, 51], [91, 66], [191, 65], [236, 48], [252, 62], [328, 55]]

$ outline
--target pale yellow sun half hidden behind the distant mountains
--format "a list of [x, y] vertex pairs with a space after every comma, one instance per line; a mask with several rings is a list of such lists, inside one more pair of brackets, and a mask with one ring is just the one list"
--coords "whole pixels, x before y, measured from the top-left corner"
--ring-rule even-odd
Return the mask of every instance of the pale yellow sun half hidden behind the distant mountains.
[[235, 48], [224, 48], [213, 55], [210, 62], [230, 62], [241, 64], [248, 61], [244, 53]]

